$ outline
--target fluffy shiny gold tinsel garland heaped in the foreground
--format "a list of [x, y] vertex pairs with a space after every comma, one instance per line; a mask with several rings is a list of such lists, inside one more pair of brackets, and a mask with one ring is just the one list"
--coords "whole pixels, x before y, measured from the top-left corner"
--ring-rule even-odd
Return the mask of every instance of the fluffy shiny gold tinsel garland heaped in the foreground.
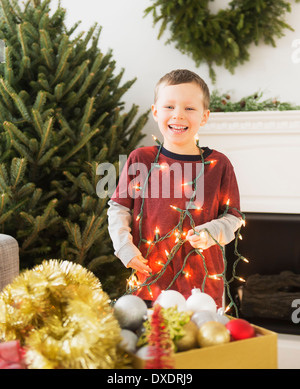
[[98, 278], [69, 261], [44, 261], [0, 293], [0, 341], [19, 339], [29, 368], [124, 367], [120, 332]]

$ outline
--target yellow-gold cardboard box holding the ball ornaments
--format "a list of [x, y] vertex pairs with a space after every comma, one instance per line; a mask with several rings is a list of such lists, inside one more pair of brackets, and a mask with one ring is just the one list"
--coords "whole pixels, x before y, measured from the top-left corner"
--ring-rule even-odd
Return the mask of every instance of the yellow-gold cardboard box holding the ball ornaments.
[[[253, 327], [254, 338], [175, 353], [175, 369], [277, 369], [277, 334]], [[133, 368], [144, 363], [133, 355]]]

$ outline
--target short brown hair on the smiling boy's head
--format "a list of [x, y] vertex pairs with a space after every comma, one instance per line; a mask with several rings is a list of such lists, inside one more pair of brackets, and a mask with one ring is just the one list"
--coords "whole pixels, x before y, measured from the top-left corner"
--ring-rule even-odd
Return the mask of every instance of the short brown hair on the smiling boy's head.
[[154, 92], [154, 102], [156, 102], [158, 97], [158, 90], [162, 84], [165, 85], [177, 85], [177, 84], [187, 84], [190, 82], [195, 82], [201, 88], [203, 92], [203, 106], [204, 109], [209, 108], [210, 104], [210, 93], [206, 82], [198, 76], [198, 74], [187, 70], [187, 69], [177, 69], [172, 70], [171, 72], [165, 74], [156, 84]]

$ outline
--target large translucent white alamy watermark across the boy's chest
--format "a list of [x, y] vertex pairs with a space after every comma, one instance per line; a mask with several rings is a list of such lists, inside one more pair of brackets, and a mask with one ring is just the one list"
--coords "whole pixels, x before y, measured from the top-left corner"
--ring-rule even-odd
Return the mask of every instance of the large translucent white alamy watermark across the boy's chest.
[[[167, 163], [152, 163], [150, 168], [148, 168], [142, 162], [129, 165], [126, 155], [120, 155], [119, 166], [120, 171], [122, 171], [124, 166], [127, 171], [127, 174], [121, 175], [119, 180], [120, 198], [186, 198], [187, 200], [192, 200], [193, 207], [199, 208], [203, 205], [203, 163], [199, 162], [196, 164], [196, 171], [193, 171], [191, 162], [183, 164], [174, 162], [171, 165]], [[100, 198], [111, 197], [117, 185], [115, 165], [102, 163], [98, 165], [96, 173], [101, 176], [96, 187], [97, 195]], [[196, 186], [193, 185], [195, 177], [197, 177]], [[189, 207], [191, 207], [191, 204]]]

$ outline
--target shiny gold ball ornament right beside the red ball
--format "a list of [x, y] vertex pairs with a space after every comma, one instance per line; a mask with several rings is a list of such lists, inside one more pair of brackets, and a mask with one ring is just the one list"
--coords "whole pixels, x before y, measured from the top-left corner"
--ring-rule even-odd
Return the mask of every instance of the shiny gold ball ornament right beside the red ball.
[[204, 323], [198, 330], [198, 344], [200, 347], [216, 346], [230, 342], [227, 328], [216, 321]]

